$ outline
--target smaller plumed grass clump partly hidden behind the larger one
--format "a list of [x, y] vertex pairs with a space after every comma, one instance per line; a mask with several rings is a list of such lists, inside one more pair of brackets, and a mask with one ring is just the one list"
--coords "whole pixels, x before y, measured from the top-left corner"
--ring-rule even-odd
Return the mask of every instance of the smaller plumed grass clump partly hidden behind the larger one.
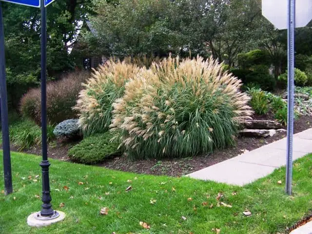
[[113, 102], [122, 97], [124, 85], [139, 72], [136, 65], [110, 59], [93, 70], [74, 107], [85, 135], [104, 133], [111, 123]]

